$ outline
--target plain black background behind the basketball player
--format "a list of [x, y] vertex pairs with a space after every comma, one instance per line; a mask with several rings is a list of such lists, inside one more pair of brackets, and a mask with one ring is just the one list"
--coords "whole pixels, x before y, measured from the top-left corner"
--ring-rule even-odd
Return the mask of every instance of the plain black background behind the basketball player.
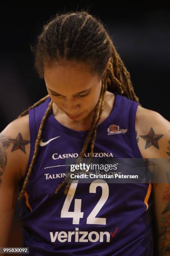
[[[35, 44], [45, 21], [57, 12], [89, 10], [99, 17], [112, 37], [125, 67], [131, 74], [135, 93], [144, 108], [170, 120], [170, 8], [162, 6], [90, 5], [7, 6], [0, 10], [0, 131], [34, 102], [47, 95], [45, 82], [33, 69], [30, 45]], [[9, 246], [20, 246], [14, 227]], [[13, 236], [13, 232], [15, 236]], [[16, 240], [15, 240], [16, 239]]]

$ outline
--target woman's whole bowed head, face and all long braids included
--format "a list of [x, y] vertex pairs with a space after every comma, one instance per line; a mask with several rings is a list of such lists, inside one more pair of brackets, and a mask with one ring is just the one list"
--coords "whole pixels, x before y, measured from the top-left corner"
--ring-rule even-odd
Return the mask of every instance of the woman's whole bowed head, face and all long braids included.
[[[131, 100], [139, 101], [130, 80], [130, 73], [120, 59], [105, 27], [99, 19], [86, 11], [57, 14], [45, 24], [42, 33], [37, 37], [35, 46], [31, 46], [31, 49], [35, 55], [34, 67], [40, 78], [45, 79], [49, 95], [30, 108], [41, 104], [49, 96], [52, 100], [40, 124], [35, 151], [19, 200], [23, 197], [28, 184], [42, 137], [42, 129], [53, 101], [61, 110], [65, 110], [70, 115], [82, 113], [81, 118], [94, 109], [91, 127], [77, 163], [80, 163], [89, 142], [91, 142], [90, 157], [92, 156], [106, 90], [115, 91]], [[75, 96], [85, 94], [85, 92], [80, 92], [88, 91], [90, 87], [90, 90], [96, 93], [95, 96], [89, 95], [89, 99], [92, 97], [91, 100], [83, 99], [83, 97], [79, 99]], [[62, 96], [52, 95], [50, 89]], [[75, 97], [74, 101], [73, 97]], [[84, 104], [82, 104], [82, 99]], [[23, 111], [19, 117], [28, 114], [30, 108]], [[63, 185], [65, 185], [65, 180], [55, 192], [58, 192]], [[65, 189], [65, 194], [68, 189], [69, 184]]]

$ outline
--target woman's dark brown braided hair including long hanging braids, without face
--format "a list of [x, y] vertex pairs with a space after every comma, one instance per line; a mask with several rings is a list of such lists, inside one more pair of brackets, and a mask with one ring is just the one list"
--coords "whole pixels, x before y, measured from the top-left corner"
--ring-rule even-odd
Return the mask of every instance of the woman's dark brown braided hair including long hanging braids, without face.
[[[102, 79], [100, 97], [97, 105], [95, 106], [91, 127], [88, 131], [87, 138], [85, 139], [79, 158], [77, 159], [77, 164], [79, 164], [87, 150], [90, 139], [90, 158], [92, 157], [97, 125], [102, 115], [106, 90], [115, 91], [131, 100], [139, 102], [130, 80], [130, 73], [125, 68], [125, 65], [113, 46], [112, 40], [105, 26], [102, 24], [100, 19], [90, 15], [87, 11], [56, 14], [54, 18], [51, 18], [50, 21], [43, 26], [42, 33], [37, 37], [36, 44], [35, 46], [31, 46], [31, 49], [35, 56], [34, 67], [41, 79], [44, 78], [44, 65], [50, 65], [53, 61], [60, 61], [60, 59], [76, 60], [77, 62], [88, 64], [90, 72], [92, 72], [92, 74], [97, 74]], [[105, 66], [109, 58], [111, 59], [110, 65], [105, 71]], [[105, 73], [103, 73], [104, 71]], [[48, 97], [49, 95], [45, 96], [30, 108], [23, 111], [18, 118], [27, 115], [31, 108], [35, 108], [37, 105], [40, 105]], [[35, 141], [35, 151], [23, 188], [18, 198], [19, 200], [25, 193], [25, 188], [35, 164], [42, 136], [42, 129], [51, 108], [52, 100], [50, 100], [40, 124], [37, 139]], [[66, 179], [59, 184], [55, 193], [57, 193], [65, 184]], [[67, 195], [69, 187], [70, 183], [68, 183], [65, 188], [65, 195]]]

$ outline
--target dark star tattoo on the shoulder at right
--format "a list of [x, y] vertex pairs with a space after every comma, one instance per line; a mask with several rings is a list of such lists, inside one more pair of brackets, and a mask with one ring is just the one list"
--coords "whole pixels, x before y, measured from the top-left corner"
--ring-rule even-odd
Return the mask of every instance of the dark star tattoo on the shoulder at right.
[[150, 146], [154, 146], [155, 148], [159, 149], [158, 141], [162, 138], [163, 134], [155, 134], [153, 128], [150, 128], [148, 135], [139, 135], [146, 141], [145, 149], [149, 148]]

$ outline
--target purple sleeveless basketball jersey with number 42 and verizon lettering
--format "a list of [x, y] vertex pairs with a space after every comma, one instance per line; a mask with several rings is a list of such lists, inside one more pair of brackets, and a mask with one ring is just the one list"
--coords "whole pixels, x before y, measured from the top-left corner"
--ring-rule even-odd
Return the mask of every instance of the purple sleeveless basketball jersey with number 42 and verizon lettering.
[[[138, 103], [114, 93], [112, 111], [97, 127], [93, 158], [141, 159], [135, 135]], [[29, 110], [28, 168], [49, 102], [50, 97]], [[78, 158], [87, 132], [67, 128], [52, 111], [48, 115], [21, 201], [23, 246], [32, 256], [152, 256], [151, 183], [77, 182], [70, 186], [70, 197], [64, 195], [65, 187], [55, 194], [65, 178], [66, 160]], [[84, 158], [89, 153], [90, 145]]]

